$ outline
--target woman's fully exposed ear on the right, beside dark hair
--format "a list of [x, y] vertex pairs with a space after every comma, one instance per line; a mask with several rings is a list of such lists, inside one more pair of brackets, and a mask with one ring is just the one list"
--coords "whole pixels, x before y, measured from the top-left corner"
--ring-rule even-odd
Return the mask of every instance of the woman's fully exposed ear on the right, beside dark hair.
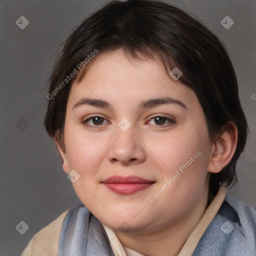
[[227, 121], [223, 125], [222, 133], [212, 144], [209, 172], [217, 173], [230, 162], [237, 144], [237, 133], [237, 127], [233, 122]]

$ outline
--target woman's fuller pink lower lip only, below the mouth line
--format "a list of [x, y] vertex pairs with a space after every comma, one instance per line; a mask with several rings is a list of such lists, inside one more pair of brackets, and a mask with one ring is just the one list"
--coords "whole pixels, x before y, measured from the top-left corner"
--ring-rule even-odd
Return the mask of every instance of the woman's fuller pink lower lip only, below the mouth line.
[[110, 190], [118, 194], [132, 194], [146, 189], [153, 183], [104, 183]]

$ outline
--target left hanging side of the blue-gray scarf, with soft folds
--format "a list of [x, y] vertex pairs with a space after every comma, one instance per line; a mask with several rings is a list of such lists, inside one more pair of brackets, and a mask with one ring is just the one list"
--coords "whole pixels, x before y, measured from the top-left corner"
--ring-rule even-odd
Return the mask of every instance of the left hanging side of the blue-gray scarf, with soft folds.
[[64, 218], [57, 256], [114, 256], [104, 227], [81, 202]]

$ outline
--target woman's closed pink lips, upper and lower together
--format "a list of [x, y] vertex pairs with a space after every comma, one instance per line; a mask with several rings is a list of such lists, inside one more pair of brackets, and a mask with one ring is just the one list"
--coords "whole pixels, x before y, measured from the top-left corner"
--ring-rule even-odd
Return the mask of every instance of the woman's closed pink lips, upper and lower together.
[[102, 181], [113, 192], [118, 194], [132, 194], [151, 186], [154, 181], [146, 180], [138, 176], [111, 176]]

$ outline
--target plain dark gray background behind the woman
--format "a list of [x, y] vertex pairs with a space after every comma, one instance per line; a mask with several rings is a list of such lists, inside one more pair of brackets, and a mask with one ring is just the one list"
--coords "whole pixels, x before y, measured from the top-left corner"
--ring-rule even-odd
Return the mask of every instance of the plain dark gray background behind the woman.
[[[196, 15], [227, 47], [251, 134], [238, 162], [237, 196], [256, 207], [256, 1], [167, 1]], [[42, 125], [46, 78], [58, 46], [103, 0], [0, 0], [0, 255], [20, 255], [33, 234], [77, 201]], [[230, 16], [225, 29], [220, 21]], [[15, 21], [25, 16], [20, 29]], [[28, 125], [28, 126], [27, 126]], [[21, 221], [29, 229], [16, 230]]]

